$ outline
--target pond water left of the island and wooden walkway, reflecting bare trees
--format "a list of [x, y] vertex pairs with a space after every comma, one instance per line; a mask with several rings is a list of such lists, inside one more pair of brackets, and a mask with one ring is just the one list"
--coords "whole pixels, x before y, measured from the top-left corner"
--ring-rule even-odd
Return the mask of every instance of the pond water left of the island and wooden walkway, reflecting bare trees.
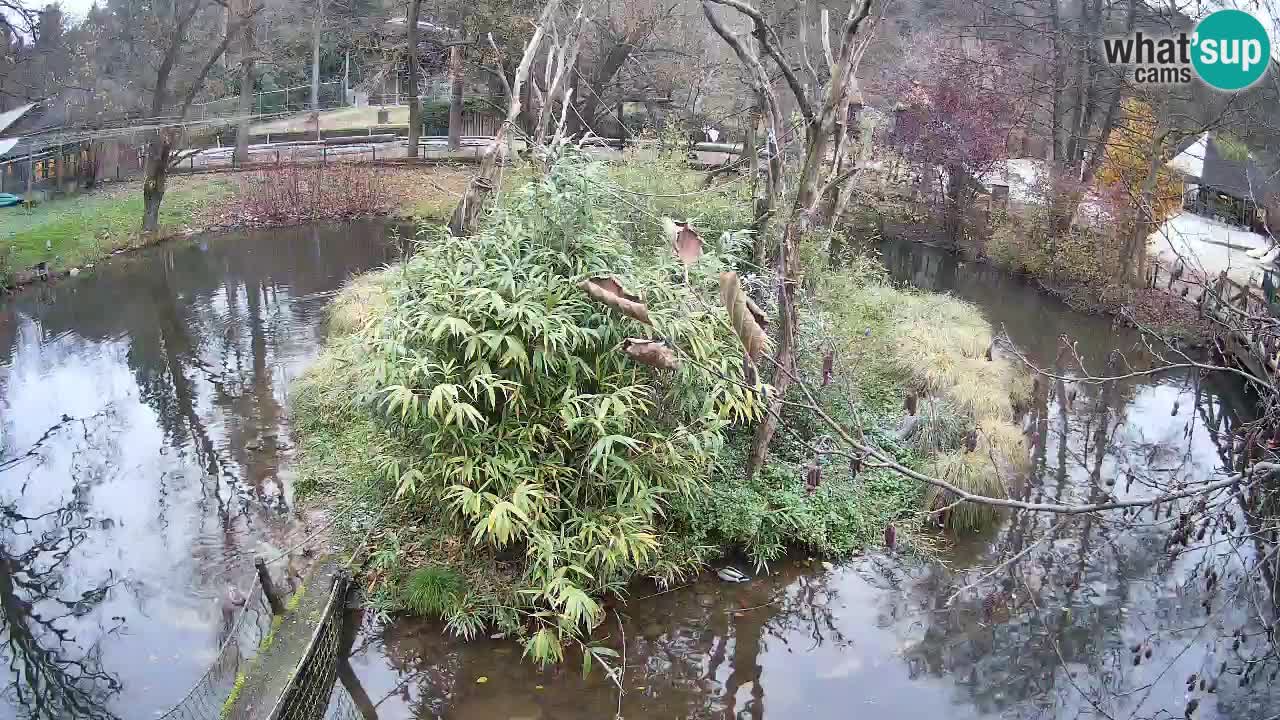
[[169, 243], [0, 305], [0, 716], [150, 717], [293, 516], [288, 382], [378, 225]]

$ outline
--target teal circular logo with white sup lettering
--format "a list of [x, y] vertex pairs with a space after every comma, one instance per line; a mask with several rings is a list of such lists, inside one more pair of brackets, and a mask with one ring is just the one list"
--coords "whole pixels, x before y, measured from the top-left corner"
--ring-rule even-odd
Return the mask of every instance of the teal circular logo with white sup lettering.
[[1262, 23], [1244, 10], [1217, 10], [1196, 26], [1192, 65], [1217, 90], [1249, 87], [1271, 61], [1271, 38]]

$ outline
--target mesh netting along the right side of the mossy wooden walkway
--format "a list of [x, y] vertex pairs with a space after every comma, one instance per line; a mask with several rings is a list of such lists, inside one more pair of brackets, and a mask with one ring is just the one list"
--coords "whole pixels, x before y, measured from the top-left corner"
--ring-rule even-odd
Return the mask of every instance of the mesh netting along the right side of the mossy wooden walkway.
[[319, 626], [298, 662], [289, 684], [280, 694], [271, 720], [321, 720], [329, 706], [338, 660], [342, 656], [343, 600], [347, 579], [340, 574], [334, 579], [329, 602], [319, 619]]

